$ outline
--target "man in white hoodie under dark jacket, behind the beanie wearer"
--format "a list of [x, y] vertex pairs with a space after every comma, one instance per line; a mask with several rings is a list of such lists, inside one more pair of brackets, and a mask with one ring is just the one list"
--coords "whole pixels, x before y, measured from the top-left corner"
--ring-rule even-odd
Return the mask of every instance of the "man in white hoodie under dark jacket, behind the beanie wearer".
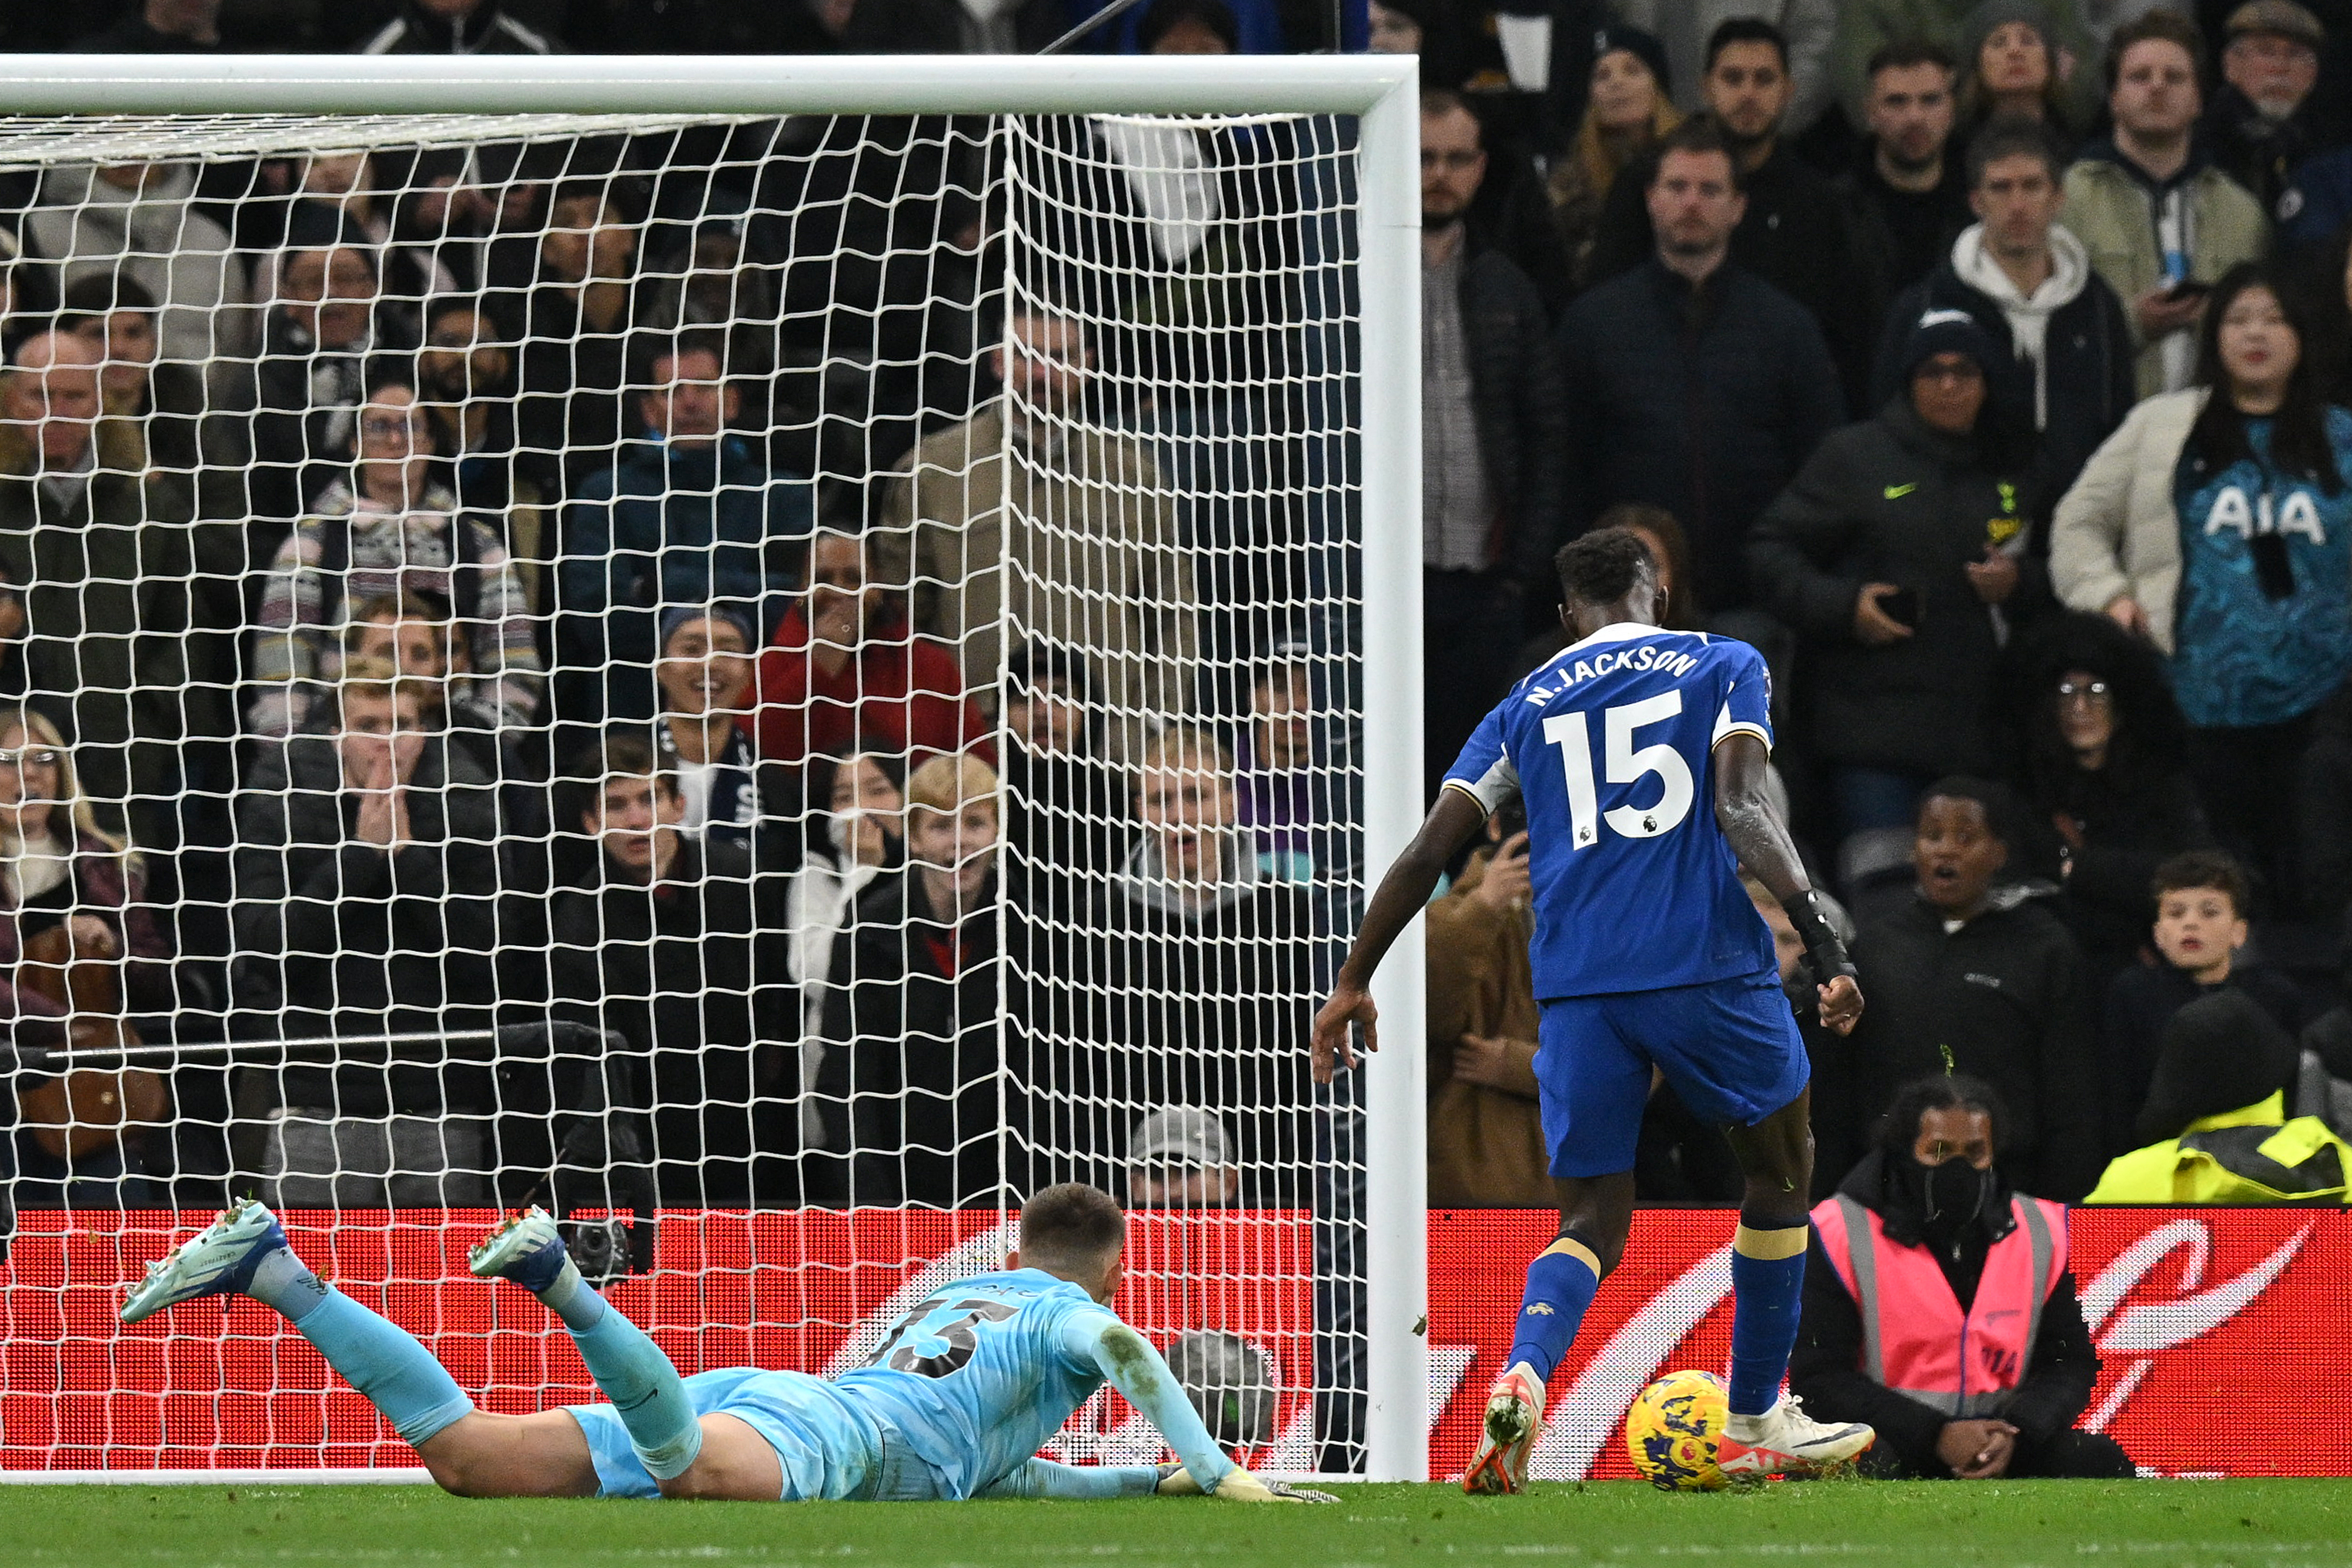
[[1969, 143], [1976, 223], [1952, 254], [1896, 296], [1879, 339], [1872, 402], [1900, 390], [1903, 343], [1929, 310], [1962, 310], [2011, 355], [1994, 367], [1992, 411], [2039, 437], [2032, 463], [2042, 503], [2065, 494], [2138, 397], [2124, 306], [2082, 240], [2058, 223], [2063, 165], [2034, 120], [1994, 120]]

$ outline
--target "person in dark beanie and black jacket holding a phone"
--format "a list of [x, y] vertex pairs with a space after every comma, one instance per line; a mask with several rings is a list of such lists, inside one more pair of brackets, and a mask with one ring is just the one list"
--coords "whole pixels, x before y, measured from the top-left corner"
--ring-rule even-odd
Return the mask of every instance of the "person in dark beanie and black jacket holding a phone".
[[1898, 393], [1823, 442], [1748, 545], [1766, 609], [1802, 642], [1846, 837], [1907, 842], [1929, 780], [1990, 766], [1999, 644], [2049, 604], [2025, 548], [2025, 433], [1987, 407], [2006, 362], [1969, 313], [1924, 310]]

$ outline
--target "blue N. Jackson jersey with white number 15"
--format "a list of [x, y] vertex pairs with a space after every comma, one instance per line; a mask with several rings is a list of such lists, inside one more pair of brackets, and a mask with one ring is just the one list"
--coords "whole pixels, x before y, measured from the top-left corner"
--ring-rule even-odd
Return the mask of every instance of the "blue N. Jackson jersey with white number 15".
[[1776, 966], [1715, 825], [1715, 743], [1771, 745], [1745, 642], [1604, 625], [1519, 682], [1446, 773], [1491, 813], [1526, 802], [1536, 997], [1700, 985]]

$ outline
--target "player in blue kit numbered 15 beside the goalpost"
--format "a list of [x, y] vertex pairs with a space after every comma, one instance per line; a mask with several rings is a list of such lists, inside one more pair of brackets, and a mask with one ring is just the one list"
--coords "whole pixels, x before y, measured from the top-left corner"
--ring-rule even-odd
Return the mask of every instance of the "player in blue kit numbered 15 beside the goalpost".
[[1804, 1288], [1813, 1175], [1809, 1070], [1773, 938], [1740, 886], [1755, 875], [1804, 936], [1820, 1020], [1851, 1032], [1853, 964], [1764, 792], [1771, 677], [1748, 644], [1656, 625], [1658, 567], [1630, 529], [1559, 552], [1571, 646], [1522, 679], [1470, 736], [1414, 844], [1381, 879], [1331, 999], [1315, 1074], [1378, 1048], [1371, 976], [1446, 863], [1519, 799], [1541, 1004], [1536, 1084], [1559, 1234], [1526, 1269], [1515, 1342], [1486, 1399], [1463, 1486], [1517, 1493], [1543, 1429], [1545, 1382], [1632, 1227], [1632, 1159], [1651, 1072], [1724, 1128], [1748, 1190], [1731, 1246], [1726, 1474], [1851, 1460], [1858, 1422], [1823, 1425], [1780, 1392]]

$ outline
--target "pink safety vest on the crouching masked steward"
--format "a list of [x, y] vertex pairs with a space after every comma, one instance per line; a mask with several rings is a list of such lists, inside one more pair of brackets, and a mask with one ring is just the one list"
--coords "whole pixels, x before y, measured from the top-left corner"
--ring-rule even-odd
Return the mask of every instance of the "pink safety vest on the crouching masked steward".
[[1964, 1316], [1929, 1248], [1889, 1241], [1879, 1215], [1849, 1197], [1813, 1208], [1820, 1246], [1863, 1314], [1860, 1371], [1872, 1382], [1952, 1420], [2009, 1403], [2067, 1265], [2065, 1206], [2011, 1197], [2011, 1211], [2018, 1222], [1985, 1253]]

